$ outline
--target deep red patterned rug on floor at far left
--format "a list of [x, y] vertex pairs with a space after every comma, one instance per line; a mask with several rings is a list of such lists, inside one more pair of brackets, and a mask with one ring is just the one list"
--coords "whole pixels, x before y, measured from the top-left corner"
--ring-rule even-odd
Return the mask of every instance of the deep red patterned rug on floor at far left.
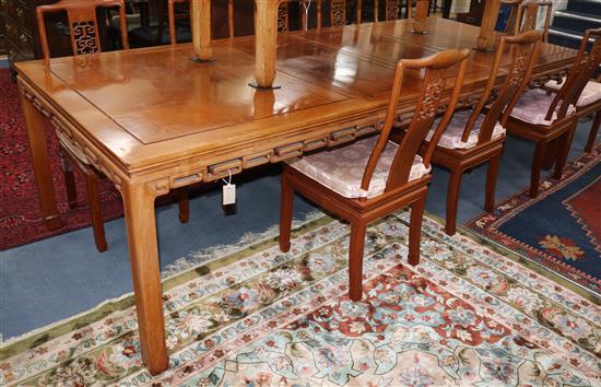
[[[57, 138], [49, 122], [47, 122], [46, 129], [51, 156], [52, 181], [63, 221], [61, 228], [51, 232], [46, 230], [42, 223], [16, 84], [11, 81], [8, 69], [0, 69], [0, 153], [2, 155], [0, 159], [2, 176], [0, 185], [0, 250], [86, 227], [91, 224], [90, 212], [85, 203], [85, 184], [81, 176], [78, 176], [76, 181], [81, 206], [70, 209], [67, 203]], [[105, 220], [121, 216], [121, 197], [110, 181], [103, 181], [101, 192]], [[94, 243], [92, 232], [90, 235], [90, 243]]]

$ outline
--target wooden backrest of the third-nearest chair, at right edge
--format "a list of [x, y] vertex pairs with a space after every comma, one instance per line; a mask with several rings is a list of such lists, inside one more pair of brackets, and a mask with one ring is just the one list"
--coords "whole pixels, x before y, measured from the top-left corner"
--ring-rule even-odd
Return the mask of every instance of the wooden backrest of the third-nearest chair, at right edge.
[[[587, 50], [592, 39], [594, 42], [590, 45], [590, 49]], [[601, 27], [585, 32], [576, 61], [569, 70], [564, 85], [559, 89], [549, 107], [546, 119], [551, 119], [555, 110], [557, 110], [557, 118], [563, 118], [566, 116], [570, 105], [576, 106], [580, 93], [582, 93], [587, 83], [594, 77], [599, 64], [601, 64]], [[557, 106], [559, 107], [558, 109]]]

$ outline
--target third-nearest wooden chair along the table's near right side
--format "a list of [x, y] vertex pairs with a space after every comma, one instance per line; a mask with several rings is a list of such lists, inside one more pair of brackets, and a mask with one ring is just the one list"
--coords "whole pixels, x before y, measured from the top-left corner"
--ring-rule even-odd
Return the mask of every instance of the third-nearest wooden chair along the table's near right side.
[[[587, 52], [587, 44], [593, 38], [594, 43]], [[530, 196], [532, 198], [539, 195], [539, 180], [549, 143], [557, 141], [559, 144], [557, 155], [554, 157], [555, 172], [553, 175], [554, 178], [559, 179], [578, 117], [599, 109], [598, 99], [587, 105], [578, 106], [578, 103], [581, 103], [582, 91], [587, 87], [600, 63], [601, 28], [589, 30], [585, 33], [576, 61], [558, 92], [549, 93], [541, 89], [528, 90], [514, 107], [507, 120], [507, 131], [537, 142], [530, 177]], [[596, 121], [598, 127], [599, 118]]]

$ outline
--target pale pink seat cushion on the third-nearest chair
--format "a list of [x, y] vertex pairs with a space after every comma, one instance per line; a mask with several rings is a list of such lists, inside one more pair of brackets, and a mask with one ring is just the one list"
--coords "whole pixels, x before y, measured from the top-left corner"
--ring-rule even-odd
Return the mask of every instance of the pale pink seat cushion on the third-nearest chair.
[[[557, 120], [556, 112], [553, 112], [551, 120], [545, 119], [553, 98], [555, 98], [555, 94], [549, 94], [544, 90], [526, 90], [511, 110], [511, 117], [533, 125], [549, 126]], [[571, 115], [574, 112], [576, 108], [570, 105], [567, 115]]]

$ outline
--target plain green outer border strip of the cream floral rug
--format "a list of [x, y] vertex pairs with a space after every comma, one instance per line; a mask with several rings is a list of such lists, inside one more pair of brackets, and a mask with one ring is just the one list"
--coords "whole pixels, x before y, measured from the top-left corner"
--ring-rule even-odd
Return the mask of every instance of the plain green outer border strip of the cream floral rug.
[[[427, 213], [426, 216], [437, 223], [440, 223], [440, 224], [445, 223], [445, 221], [438, 215]], [[321, 218], [294, 228], [292, 231], [292, 237], [296, 237], [299, 234], [303, 234], [310, 230], [315, 230], [319, 226], [331, 223], [332, 221], [334, 221], [334, 218], [323, 213]], [[598, 295], [591, 293], [590, 291], [587, 291], [586, 289], [579, 286], [578, 284], [575, 284], [574, 282], [563, 278], [562, 275], [556, 274], [555, 272], [542, 266], [539, 266], [535, 262], [530, 261], [528, 258], [508, 249], [505, 246], [498, 245], [495, 242], [490, 241], [479, 234], [475, 234], [463, 226], [459, 227], [458, 234], [464, 237], [468, 237], [471, 241], [493, 250], [496, 254], [507, 257], [519, 265], [525, 266], [526, 268], [550, 279], [551, 281], [559, 284], [561, 286], [573, 291], [574, 293], [586, 298], [587, 301], [590, 301], [593, 304], [601, 305], [601, 297], [599, 297]], [[205, 265], [200, 265], [198, 267], [188, 269], [172, 278], [165, 279], [162, 281], [163, 291], [168, 291], [170, 289], [174, 289], [175, 286], [178, 286], [187, 281], [190, 281], [195, 278], [199, 278], [209, 272], [214, 272], [220, 267], [232, 263], [238, 260], [240, 257], [248, 256], [249, 254], [252, 254], [256, 250], [270, 248], [278, 244], [278, 239], [279, 239], [279, 235], [267, 237], [266, 239], [257, 244], [247, 246], [236, 253], [224, 256], [214, 261], [210, 261]], [[111, 313], [122, 312], [133, 305], [134, 305], [133, 294], [128, 293], [128, 294], [123, 294], [119, 298], [107, 300], [102, 304], [99, 304], [98, 306], [87, 312], [83, 312], [81, 315], [69, 317], [63, 321], [56, 322], [56, 325], [47, 326], [47, 328], [45, 327], [38, 328], [38, 330], [40, 330], [38, 333], [34, 333], [32, 336], [25, 337], [22, 340], [15, 339], [16, 341], [14, 341], [9, 345], [2, 344], [2, 348], [0, 349], [0, 361], [4, 361], [8, 357], [16, 355], [32, 348], [38, 347], [40, 344], [44, 344], [45, 342], [48, 342], [60, 336], [67, 335], [68, 332], [73, 331], [75, 329], [81, 329], [83, 327], [86, 327], [91, 324], [94, 324], [105, 318]]]

